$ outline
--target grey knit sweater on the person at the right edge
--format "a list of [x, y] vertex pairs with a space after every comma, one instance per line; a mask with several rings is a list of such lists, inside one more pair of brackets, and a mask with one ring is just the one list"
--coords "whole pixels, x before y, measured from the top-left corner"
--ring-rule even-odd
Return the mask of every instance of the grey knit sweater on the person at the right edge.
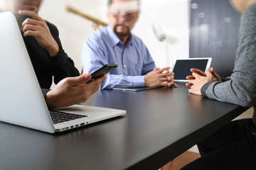
[[242, 13], [233, 74], [222, 82], [205, 84], [201, 92], [218, 101], [254, 106], [253, 123], [256, 125], [256, 4]]

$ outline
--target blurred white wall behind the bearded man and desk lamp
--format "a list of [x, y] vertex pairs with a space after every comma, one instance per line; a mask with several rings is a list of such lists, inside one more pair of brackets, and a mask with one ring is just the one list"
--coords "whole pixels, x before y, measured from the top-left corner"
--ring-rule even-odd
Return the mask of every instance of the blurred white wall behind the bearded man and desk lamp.
[[[154, 60], [159, 61], [157, 65], [171, 66], [177, 58], [187, 58], [190, 1], [142, 0], [141, 2], [142, 12], [132, 33], [142, 38]], [[80, 70], [82, 43], [94, 30], [92, 22], [66, 11], [67, 5], [107, 22], [107, 0], [44, 0], [41, 6], [39, 14], [58, 27], [64, 50], [73, 58], [76, 67]], [[158, 42], [152, 24], [166, 34], [166, 41]]]

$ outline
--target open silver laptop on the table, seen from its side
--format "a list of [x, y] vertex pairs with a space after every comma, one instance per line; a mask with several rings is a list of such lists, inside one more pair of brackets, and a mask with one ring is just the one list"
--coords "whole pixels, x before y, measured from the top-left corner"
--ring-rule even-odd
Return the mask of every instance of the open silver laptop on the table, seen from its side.
[[54, 133], [126, 113], [112, 108], [80, 105], [58, 108], [50, 113], [16, 18], [11, 12], [0, 13], [0, 48], [0, 121]]

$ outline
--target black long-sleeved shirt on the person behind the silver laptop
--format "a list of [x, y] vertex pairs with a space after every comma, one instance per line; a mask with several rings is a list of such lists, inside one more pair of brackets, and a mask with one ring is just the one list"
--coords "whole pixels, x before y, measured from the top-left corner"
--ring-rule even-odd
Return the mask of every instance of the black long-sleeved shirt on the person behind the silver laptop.
[[31, 36], [23, 37], [41, 89], [50, 89], [53, 80], [55, 84], [58, 84], [65, 77], [79, 76], [73, 60], [68, 57], [62, 48], [58, 29], [52, 23], [47, 21], [46, 23], [50, 33], [60, 47], [60, 52], [58, 52], [57, 56], [50, 57], [48, 51], [38, 44], [36, 38]]

